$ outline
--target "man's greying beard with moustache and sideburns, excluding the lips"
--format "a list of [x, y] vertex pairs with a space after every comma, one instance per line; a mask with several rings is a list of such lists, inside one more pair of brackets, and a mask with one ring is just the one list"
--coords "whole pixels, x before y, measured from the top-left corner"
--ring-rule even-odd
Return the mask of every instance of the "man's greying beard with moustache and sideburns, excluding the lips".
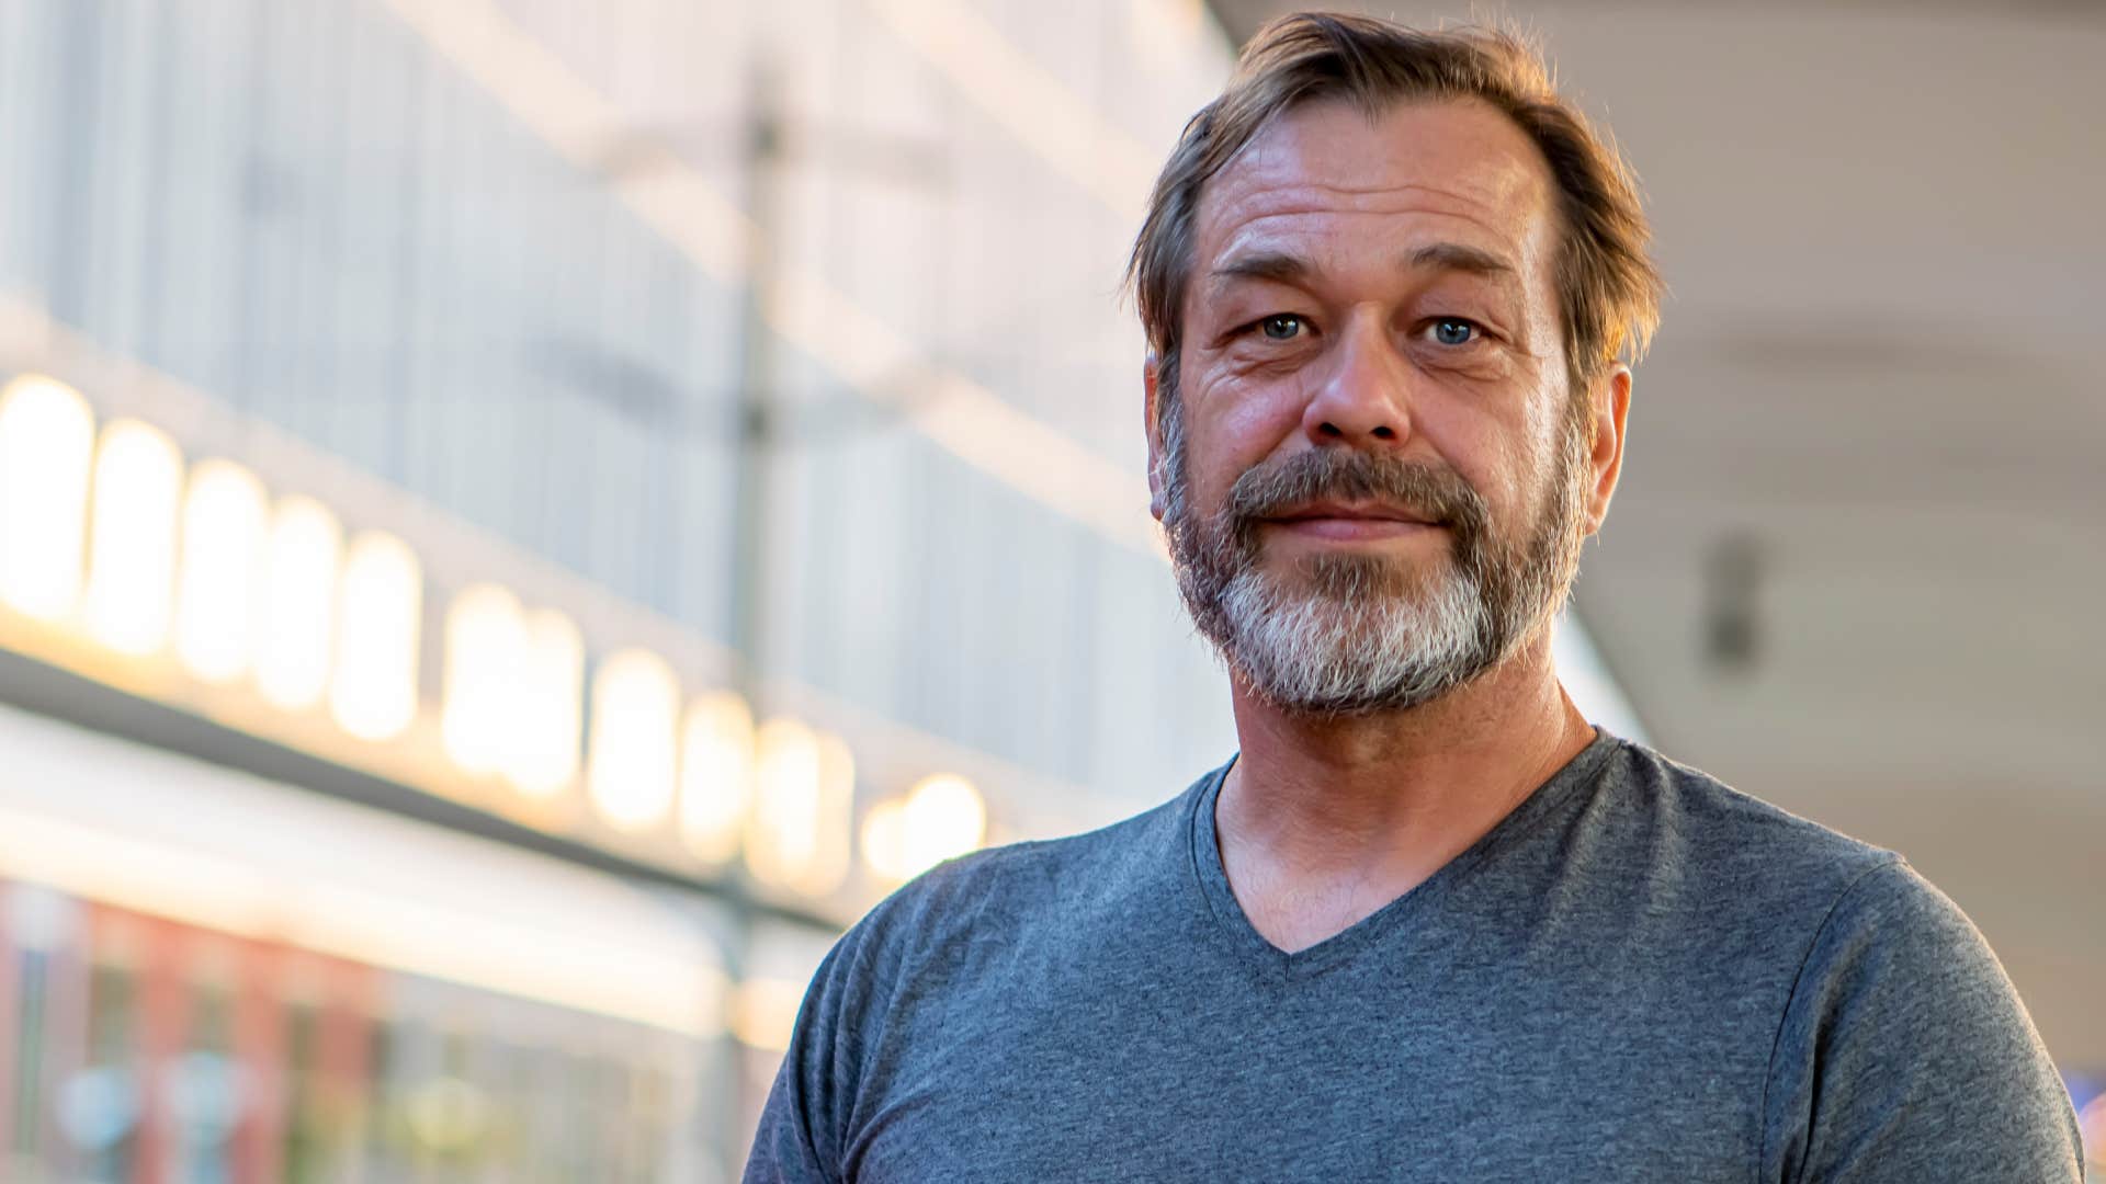
[[[1550, 621], [1580, 565], [1586, 423], [1567, 417], [1548, 506], [1518, 544], [1451, 470], [1369, 453], [1304, 453], [1236, 478], [1200, 520], [1186, 487], [1181, 409], [1165, 415], [1165, 514], [1177, 590], [1198, 632], [1261, 699], [1293, 714], [1415, 708], [1504, 662]], [[1261, 565], [1257, 518], [1314, 497], [1386, 501], [1447, 527], [1451, 554], [1417, 573], [1375, 556]]]

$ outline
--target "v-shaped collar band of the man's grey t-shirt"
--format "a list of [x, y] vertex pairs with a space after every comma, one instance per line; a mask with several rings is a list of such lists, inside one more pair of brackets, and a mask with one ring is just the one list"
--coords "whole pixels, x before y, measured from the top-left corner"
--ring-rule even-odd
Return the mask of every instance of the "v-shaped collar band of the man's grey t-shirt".
[[1533, 824], [1569, 796], [1575, 786], [1592, 782], [1596, 769], [1617, 744], [1620, 742], [1607, 731], [1594, 729], [1594, 739], [1582, 748], [1577, 756], [1567, 761], [1563, 769], [1552, 773], [1550, 780], [1537, 786], [1518, 807], [1495, 822], [1493, 828], [1478, 836], [1476, 843], [1443, 864], [1434, 874], [1419, 881], [1417, 887], [1405, 891], [1396, 900], [1384, 904], [1375, 912], [1325, 938], [1323, 942], [1293, 952], [1268, 942], [1257, 927], [1251, 925], [1251, 919], [1243, 912], [1243, 904], [1236, 902], [1236, 893], [1228, 887], [1228, 870], [1221, 866], [1221, 845], [1215, 838], [1215, 803], [1221, 798], [1221, 786], [1228, 782], [1228, 771], [1236, 767], [1236, 758], [1230, 758], [1228, 765], [1215, 769], [1215, 773], [1200, 784], [1198, 792], [1192, 794], [1192, 805], [1188, 807], [1186, 817], [1186, 836], [1190, 841], [1194, 872], [1192, 881], [1194, 889], [1200, 893], [1209, 921], [1213, 921], [1209, 929], [1226, 940], [1226, 946], [1230, 946], [1238, 961], [1257, 967], [1268, 978], [1276, 978], [1280, 982], [1314, 978], [1382, 942], [1411, 916], [1434, 908], [1449, 895], [1449, 891], [1453, 891], [1457, 881], [1466, 879], [1478, 864], [1495, 853], [1497, 847], [1533, 828]]

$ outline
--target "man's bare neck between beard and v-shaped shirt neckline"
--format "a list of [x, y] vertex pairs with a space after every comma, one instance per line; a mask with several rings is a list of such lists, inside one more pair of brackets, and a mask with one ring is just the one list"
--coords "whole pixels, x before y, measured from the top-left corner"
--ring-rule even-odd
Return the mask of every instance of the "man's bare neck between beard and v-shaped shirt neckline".
[[1302, 948], [1411, 891], [1594, 737], [1550, 664], [1550, 630], [1470, 685], [1398, 712], [1283, 712], [1240, 678], [1243, 754], [1215, 807], [1245, 914]]

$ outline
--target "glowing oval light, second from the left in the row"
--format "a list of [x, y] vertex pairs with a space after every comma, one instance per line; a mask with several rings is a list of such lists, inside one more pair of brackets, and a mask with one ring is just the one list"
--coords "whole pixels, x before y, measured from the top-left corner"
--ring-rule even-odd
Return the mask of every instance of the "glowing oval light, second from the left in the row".
[[88, 529], [88, 636], [118, 653], [168, 643], [183, 455], [160, 428], [116, 419], [95, 449]]

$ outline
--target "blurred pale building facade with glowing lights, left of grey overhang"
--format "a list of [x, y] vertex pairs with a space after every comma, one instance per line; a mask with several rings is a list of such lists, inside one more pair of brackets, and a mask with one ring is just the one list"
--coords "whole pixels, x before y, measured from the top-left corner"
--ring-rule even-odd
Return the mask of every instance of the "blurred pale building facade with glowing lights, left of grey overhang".
[[1224, 761], [1120, 272], [1230, 63], [1196, 0], [0, 4], [11, 1178], [731, 1176], [840, 925]]

